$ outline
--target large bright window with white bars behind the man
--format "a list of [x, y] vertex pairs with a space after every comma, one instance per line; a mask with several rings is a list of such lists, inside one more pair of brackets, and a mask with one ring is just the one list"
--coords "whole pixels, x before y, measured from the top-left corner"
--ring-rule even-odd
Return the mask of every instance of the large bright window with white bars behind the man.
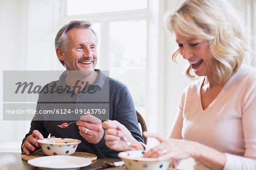
[[[150, 94], [152, 98], [147, 98], [148, 93], [157, 89], [154, 85], [151, 85], [154, 89], [147, 86], [149, 80], [157, 82], [157, 77], [152, 78], [151, 73], [148, 73], [151, 57], [148, 52], [149, 34], [158, 27], [149, 27], [149, 3], [148, 0], [67, 0], [63, 5], [65, 23], [75, 19], [92, 21], [99, 39], [96, 68], [109, 71], [110, 77], [127, 85], [135, 109], [144, 119], [150, 114], [148, 111], [152, 110], [148, 106], [148, 103], [152, 103], [149, 100], [156, 99], [155, 93]], [[157, 68], [156, 65], [152, 69], [154, 74]]]

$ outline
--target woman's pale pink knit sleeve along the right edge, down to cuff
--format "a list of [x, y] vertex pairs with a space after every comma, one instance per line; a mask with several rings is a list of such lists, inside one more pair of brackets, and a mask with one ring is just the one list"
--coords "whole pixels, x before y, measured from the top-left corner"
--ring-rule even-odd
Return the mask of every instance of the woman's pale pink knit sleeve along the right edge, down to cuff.
[[[224, 169], [256, 169], [256, 76], [251, 78], [248, 86], [243, 86], [246, 94], [242, 103], [243, 140], [245, 154], [243, 156], [226, 154]], [[238, 104], [238, 103], [237, 103]]]

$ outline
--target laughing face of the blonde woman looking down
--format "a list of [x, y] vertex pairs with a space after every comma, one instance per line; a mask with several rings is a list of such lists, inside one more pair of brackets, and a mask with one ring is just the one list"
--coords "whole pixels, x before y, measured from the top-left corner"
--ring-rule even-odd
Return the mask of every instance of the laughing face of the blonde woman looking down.
[[209, 41], [196, 36], [182, 36], [175, 31], [176, 42], [183, 59], [189, 64], [197, 76], [212, 76], [212, 53], [209, 49]]

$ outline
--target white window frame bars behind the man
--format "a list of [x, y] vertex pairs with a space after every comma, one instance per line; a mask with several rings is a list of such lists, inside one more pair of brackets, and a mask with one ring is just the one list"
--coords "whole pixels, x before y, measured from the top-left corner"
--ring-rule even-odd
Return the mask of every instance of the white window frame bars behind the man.
[[[102, 17], [104, 16], [104, 17]], [[158, 60], [159, 56], [158, 42], [159, 42], [159, 2], [154, 0], [147, 0], [147, 9], [136, 9], [126, 11], [112, 11], [105, 13], [82, 14], [82, 15], [67, 15], [67, 0], [61, 1], [61, 17], [60, 25], [68, 23], [71, 20], [89, 19], [92, 23], [101, 24], [101, 45], [100, 45], [100, 69], [109, 71], [109, 23], [121, 22], [127, 20], [146, 20], [147, 25], [147, 40], [146, 40], [146, 96], [145, 108], [142, 114], [147, 122], [148, 130], [155, 131], [158, 129]], [[162, 17], [160, 18], [162, 19]], [[162, 22], [162, 20], [161, 20]], [[104, 54], [104, 55], [102, 55]], [[101, 63], [104, 63], [102, 65]], [[97, 64], [97, 68], [98, 68]], [[111, 75], [110, 75], [111, 76]], [[129, 88], [129, 87], [128, 87]], [[149, 97], [150, 96], [150, 97]], [[136, 107], [136, 106], [135, 106]]]

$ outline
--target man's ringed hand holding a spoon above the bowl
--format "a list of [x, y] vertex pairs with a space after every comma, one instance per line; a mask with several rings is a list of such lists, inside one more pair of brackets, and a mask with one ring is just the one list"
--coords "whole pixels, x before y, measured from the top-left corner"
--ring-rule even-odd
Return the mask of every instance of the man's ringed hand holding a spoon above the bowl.
[[76, 125], [82, 138], [93, 144], [100, 142], [104, 135], [101, 120], [90, 114], [82, 115], [80, 119]]

